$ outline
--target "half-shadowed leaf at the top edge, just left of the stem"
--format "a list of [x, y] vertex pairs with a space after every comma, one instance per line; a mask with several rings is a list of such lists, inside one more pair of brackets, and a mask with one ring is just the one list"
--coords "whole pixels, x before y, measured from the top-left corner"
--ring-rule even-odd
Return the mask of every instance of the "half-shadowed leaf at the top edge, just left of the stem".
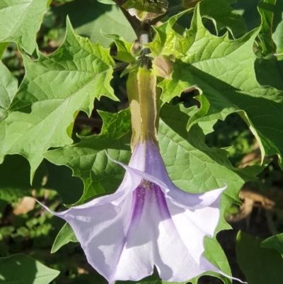
[[112, 40], [105, 39], [100, 30], [104, 33], [119, 34], [129, 42], [137, 38], [117, 5], [105, 5], [97, 0], [75, 0], [53, 10], [64, 18], [69, 15], [76, 33], [87, 36], [91, 42], [98, 41], [103, 47], [108, 47]]

